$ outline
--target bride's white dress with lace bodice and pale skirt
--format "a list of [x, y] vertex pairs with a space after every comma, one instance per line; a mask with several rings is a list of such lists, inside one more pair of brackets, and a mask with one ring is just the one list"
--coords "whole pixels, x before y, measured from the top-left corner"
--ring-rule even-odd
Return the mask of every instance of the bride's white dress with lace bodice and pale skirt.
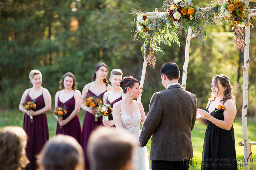
[[[131, 113], [131, 115], [128, 115], [125, 112], [126, 109], [121, 106], [120, 115], [123, 129], [131, 132], [134, 138], [137, 140], [140, 137], [140, 109], [138, 109], [138, 111], [135, 113]], [[146, 146], [143, 148], [135, 146], [134, 170], [149, 170], [149, 156]]]

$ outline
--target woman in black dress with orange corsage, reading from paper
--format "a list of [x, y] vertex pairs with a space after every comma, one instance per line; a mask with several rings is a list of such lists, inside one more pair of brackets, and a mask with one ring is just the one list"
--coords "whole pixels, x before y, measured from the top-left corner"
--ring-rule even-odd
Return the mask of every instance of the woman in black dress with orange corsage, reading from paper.
[[[237, 112], [233, 86], [226, 75], [212, 81], [212, 96], [204, 111], [198, 109], [200, 123], [207, 126], [202, 170], [237, 170], [233, 122]], [[200, 117], [200, 118], [199, 118]]]

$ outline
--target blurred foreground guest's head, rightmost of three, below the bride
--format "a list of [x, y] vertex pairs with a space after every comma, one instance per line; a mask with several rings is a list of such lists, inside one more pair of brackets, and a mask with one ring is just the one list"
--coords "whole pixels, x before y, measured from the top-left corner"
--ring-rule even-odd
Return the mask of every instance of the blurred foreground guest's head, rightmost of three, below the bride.
[[132, 161], [133, 137], [116, 128], [99, 127], [89, 138], [87, 145], [91, 169], [120, 170]]

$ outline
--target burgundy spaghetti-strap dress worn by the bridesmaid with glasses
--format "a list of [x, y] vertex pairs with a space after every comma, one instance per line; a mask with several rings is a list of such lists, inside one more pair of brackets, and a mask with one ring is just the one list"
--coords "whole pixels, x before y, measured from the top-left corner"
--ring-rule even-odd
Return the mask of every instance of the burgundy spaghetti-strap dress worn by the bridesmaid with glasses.
[[[90, 84], [91, 85], [91, 84]], [[103, 92], [102, 94], [100, 94], [99, 96], [96, 96], [93, 92], [90, 91], [90, 85], [89, 85], [89, 89], [87, 92], [87, 97], [98, 97], [100, 100], [103, 101], [103, 95], [105, 92], [107, 92], [107, 90], [105, 92]], [[85, 116], [84, 116], [84, 123], [83, 123], [83, 135], [82, 135], [82, 147], [84, 150], [84, 163], [85, 163], [85, 170], [90, 169], [89, 168], [89, 162], [88, 162], [88, 157], [87, 157], [87, 143], [89, 140], [89, 137], [91, 135], [91, 133], [98, 127], [98, 126], [103, 126], [102, 123], [102, 116], [98, 118], [98, 121], [95, 122], [94, 118], [93, 118], [93, 114], [86, 112]]]

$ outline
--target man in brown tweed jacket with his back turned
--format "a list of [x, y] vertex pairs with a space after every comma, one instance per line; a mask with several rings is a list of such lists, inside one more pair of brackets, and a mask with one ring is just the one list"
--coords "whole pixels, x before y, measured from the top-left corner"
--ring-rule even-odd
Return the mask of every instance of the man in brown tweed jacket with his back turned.
[[146, 146], [152, 135], [152, 170], [189, 169], [193, 157], [191, 131], [196, 122], [196, 95], [178, 83], [180, 71], [176, 63], [163, 64], [160, 73], [166, 90], [152, 96], [136, 145]]

